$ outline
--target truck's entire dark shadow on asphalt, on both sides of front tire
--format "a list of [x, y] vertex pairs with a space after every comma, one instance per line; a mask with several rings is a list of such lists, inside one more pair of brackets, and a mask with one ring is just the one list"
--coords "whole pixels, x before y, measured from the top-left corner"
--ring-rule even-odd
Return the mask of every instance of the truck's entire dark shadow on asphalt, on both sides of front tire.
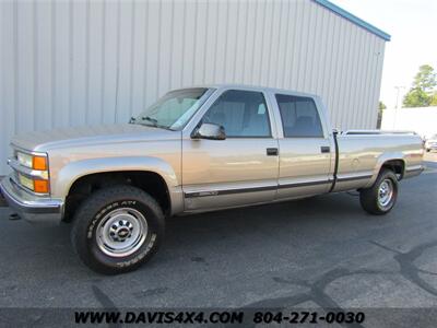
[[[9, 211], [4, 211], [8, 215]], [[4, 215], [2, 215], [4, 216]], [[271, 241], [284, 241], [293, 246], [298, 237], [317, 236], [324, 227], [353, 225], [357, 220], [366, 220], [357, 199], [347, 195], [330, 195], [296, 201], [223, 210], [217, 212], [170, 218], [167, 221], [166, 238], [155, 258], [140, 271], [160, 267], [163, 262], [191, 261], [206, 263], [206, 258], [216, 256], [217, 251], [235, 251], [228, 245], [243, 241], [249, 245], [269, 244]], [[11, 234], [1, 236], [5, 244], [12, 245], [5, 250], [8, 257], [20, 253], [21, 261], [16, 268], [10, 267], [9, 273], [20, 270], [23, 263], [32, 266], [35, 273], [44, 276], [49, 268], [78, 270], [79, 276], [96, 277], [86, 269], [75, 256], [70, 244], [71, 224], [61, 226], [40, 226], [24, 221], [3, 221], [3, 231]], [[14, 237], [12, 237], [14, 235]], [[20, 241], [20, 242], [19, 242]], [[224, 244], [225, 243], [225, 244]], [[260, 249], [261, 250], [261, 249]], [[251, 253], [253, 248], [241, 248], [240, 253]], [[261, 250], [262, 251], [262, 250]], [[270, 251], [269, 247], [265, 251]], [[175, 254], [179, 258], [175, 258]], [[232, 258], [231, 258], [232, 259]], [[175, 265], [175, 263], [174, 263]], [[73, 268], [74, 267], [74, 268]], [[69, 268], [69, 269], [67, 269]], [[61, 271], [62, 271], [61, 270]], [[8, 272], [0, 270], [0, 276]], [[54, 270], [55, 272], [56, 270]], [[91, 274], [90, 274], [91, 273]], [[55, 274], [55, 273], [54, 273]], [[101, 277], [97, 274], [97, 277]]]

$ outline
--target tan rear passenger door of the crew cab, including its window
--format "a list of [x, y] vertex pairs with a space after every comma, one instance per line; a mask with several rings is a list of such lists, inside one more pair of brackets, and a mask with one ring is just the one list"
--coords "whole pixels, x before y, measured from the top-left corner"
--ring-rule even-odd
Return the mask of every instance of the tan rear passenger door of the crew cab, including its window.
[[[334, 145], [312, 97], [275, 93], [282, 120], [277, 198], [327, 192]], [[280, 132], [281, 134], [281, 132]]]

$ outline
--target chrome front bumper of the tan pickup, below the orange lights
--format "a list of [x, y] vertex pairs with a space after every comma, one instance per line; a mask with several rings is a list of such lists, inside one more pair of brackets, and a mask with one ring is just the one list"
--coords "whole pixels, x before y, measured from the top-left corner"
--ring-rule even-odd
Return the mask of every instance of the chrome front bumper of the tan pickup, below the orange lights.
[[16, 186], [10, 176], [0, 181], [0, 191], [8, 204], [27, 221], [59, 224], [62, 220], [63, 202], [60, 199], [32, 195]]

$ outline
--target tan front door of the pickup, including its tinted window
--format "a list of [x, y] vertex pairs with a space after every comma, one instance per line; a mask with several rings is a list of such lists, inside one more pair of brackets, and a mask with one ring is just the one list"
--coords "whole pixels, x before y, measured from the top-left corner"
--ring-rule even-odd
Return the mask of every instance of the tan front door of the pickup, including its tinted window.
[[271, 201], [279, 176], [277, 139], [262, 92], [226, 90], [201, 122], [224, 127], [225, 140], [182, 139], [186, 211]]

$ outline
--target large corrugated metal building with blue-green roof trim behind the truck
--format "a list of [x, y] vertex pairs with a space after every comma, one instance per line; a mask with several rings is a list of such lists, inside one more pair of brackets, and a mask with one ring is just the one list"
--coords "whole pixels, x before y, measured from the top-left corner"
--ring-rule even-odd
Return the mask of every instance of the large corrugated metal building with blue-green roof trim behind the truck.
[[0, 174], [17, 132], [127, 121], [169, 89], [321, 95], [375, 128], [390, 36], [326, 0], [0, 1]]

